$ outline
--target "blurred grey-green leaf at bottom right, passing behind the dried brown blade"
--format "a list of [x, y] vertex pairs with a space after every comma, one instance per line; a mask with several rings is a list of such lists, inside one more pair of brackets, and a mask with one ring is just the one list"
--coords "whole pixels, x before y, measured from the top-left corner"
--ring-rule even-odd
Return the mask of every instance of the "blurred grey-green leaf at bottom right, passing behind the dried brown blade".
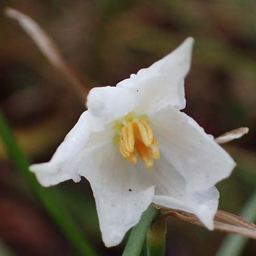
[[[253, 195], [246, 202], [240, 216], [251, 222], [256, 221], [256, 191], [253, 192]], [[246, 246], [246, 242], [246, 237], [229, 234], [222, 242], [216, 256], [239, 256]]]

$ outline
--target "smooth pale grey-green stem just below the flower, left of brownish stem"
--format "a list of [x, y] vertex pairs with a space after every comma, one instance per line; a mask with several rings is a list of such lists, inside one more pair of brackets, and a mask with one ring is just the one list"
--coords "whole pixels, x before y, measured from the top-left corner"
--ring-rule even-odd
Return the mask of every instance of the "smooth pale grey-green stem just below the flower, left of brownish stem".
[[147, 230], [158, 216], [159, 210], [149, 207], [141, 216], [139, 223], [131, 230], [122, 256], [139, 256], [146, 238]]

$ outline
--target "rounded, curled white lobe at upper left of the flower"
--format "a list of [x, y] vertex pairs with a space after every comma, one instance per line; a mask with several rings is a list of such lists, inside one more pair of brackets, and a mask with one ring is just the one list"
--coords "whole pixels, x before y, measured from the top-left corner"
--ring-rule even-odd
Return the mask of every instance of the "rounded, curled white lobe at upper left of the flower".
[[87, 107], [99, 125], [131, 112], [139, 103], [140, 93], [133, 88], [117, 88], [114, 86], [96, 87], [90, 90]]

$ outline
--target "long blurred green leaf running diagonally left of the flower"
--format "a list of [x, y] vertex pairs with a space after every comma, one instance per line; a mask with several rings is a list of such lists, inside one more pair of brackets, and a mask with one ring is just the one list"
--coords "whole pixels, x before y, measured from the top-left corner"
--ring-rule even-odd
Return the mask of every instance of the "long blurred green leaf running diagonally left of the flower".
[[53, 221], [59, 226], [64, 236], [72, 243], [79, 254], [84, 256], [96, 256], [95, 251], [86, 241], [79, 227], [73, 221], [63, 204], [61, 204], [59, 200], [56, 200], [55, 193], [39, 185], [34, 174], [28, 171], [30, 160], [28, 160], [27, 156], [20, 149], [1, 112], [0, 137], [2, 138], [6, 150], [9, 152], [10, 158], [13, 160], [15, 166], [22, 173], [32, 191], [34, 191], [36, 196], [41, 200], [44, 208], [46, 208]]

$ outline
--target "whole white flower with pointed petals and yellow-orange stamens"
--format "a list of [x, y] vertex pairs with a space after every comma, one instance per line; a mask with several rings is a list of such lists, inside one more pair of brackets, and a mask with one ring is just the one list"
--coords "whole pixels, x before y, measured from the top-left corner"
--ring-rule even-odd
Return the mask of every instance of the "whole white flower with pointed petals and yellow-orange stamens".
[[151, 203], [196, 214], [213, 229], [214, 185], [235, 163], [180, 112], [192, 46], [188, 38], [117, 86], [90, 90], [88, 110], [52, 159], [30, 167], [44, 186], [90, 181], [106, 246], [121, 242]]

